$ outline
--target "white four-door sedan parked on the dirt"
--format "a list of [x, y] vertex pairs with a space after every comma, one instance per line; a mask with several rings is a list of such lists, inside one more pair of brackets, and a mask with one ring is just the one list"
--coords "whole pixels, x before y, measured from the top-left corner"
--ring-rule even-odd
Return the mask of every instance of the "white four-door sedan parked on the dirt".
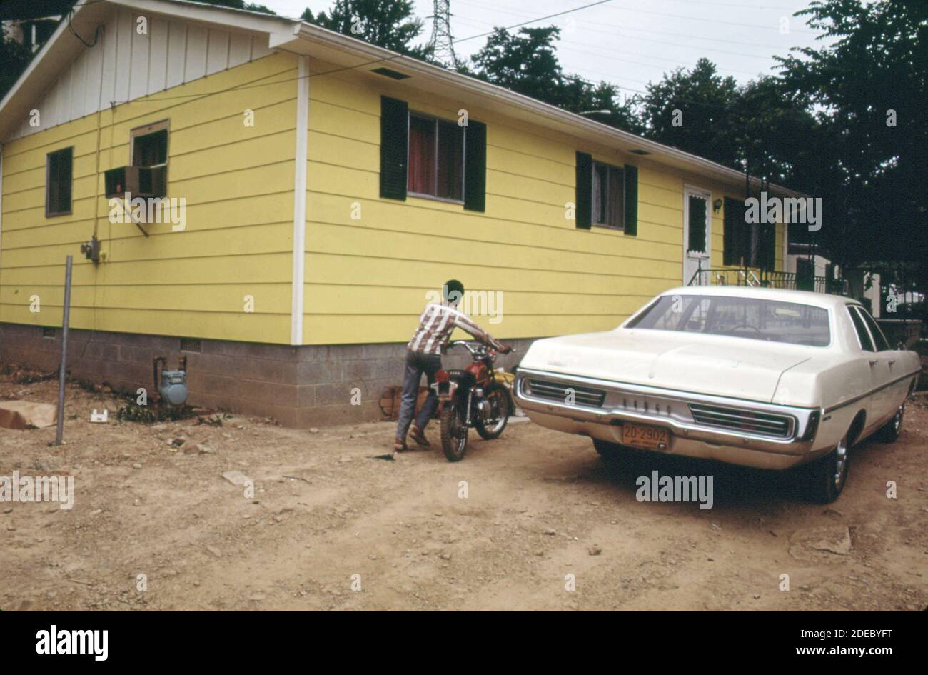
[[690, 286], [614, 331], [538, 340], [515, 394], [533, 422], [587, 435], [599, 454], [643, 448], [764, 469], [808, 463], [837, 499], [847, 451], [894, 441], [921, 362], [836, 295]]

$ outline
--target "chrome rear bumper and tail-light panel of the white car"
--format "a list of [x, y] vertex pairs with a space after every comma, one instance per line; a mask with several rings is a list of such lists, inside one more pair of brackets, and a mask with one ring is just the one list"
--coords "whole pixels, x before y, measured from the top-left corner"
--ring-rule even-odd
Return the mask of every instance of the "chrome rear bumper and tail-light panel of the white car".
[[622, 424], [638, 422], [671, 432], [669, 446], [659, 450], [668, 454], [764, 469], [816, 456], [819, 409], [530, 369], [519, 369], [514, 393], [533, 422], [568, 434], [620, 443]]

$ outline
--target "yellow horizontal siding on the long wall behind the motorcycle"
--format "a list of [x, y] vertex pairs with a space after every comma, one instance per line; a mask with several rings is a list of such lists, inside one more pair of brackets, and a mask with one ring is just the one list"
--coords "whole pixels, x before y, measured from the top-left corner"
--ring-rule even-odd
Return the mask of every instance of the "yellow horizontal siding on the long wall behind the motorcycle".
[[[329, 64], [313, 61], [312, 71]], [[416, 197], [380, 199], [380, 96], [410, 110], [487, 123], [486, 211]], [[638, 236], [578, 230], [575, 152], [638, 166]], [[405, 341], [445, 279], [503, 294], [494, 334], [533, 337], [613, 328], [648, 298], [683, 283], [683, 188], [713, 199], [730, 186], [647, 158], [581, 143], [465, 101], [424, 97], [403, 84], [340, 72], [310, 86], [303, 339], [309, 344]], [[361, 217], [355, 219], [357, 207]], [[712, 263], [721, 266], [721, 214]]]

